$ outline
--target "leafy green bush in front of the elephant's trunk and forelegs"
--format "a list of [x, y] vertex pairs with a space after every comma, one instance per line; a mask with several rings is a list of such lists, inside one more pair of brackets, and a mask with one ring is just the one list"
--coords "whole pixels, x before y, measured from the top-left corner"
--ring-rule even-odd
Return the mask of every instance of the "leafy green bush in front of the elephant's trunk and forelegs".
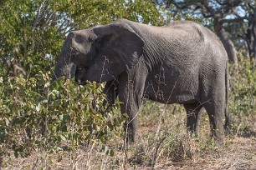
[[[104, 144], [124, 121], [122, 116], [113, 117], [119, 103], [104, 104], [104, 87], [95, 82], [77, 86], [64, 77], [50, 83], [49, 72], [7, 81], [0, 77], [1, 157], [27, 157], [33, 150], [54, 153], [65, 144], [74, 161], [84, 143]], [[114, 154], [110, 149], [105, 153]]]

